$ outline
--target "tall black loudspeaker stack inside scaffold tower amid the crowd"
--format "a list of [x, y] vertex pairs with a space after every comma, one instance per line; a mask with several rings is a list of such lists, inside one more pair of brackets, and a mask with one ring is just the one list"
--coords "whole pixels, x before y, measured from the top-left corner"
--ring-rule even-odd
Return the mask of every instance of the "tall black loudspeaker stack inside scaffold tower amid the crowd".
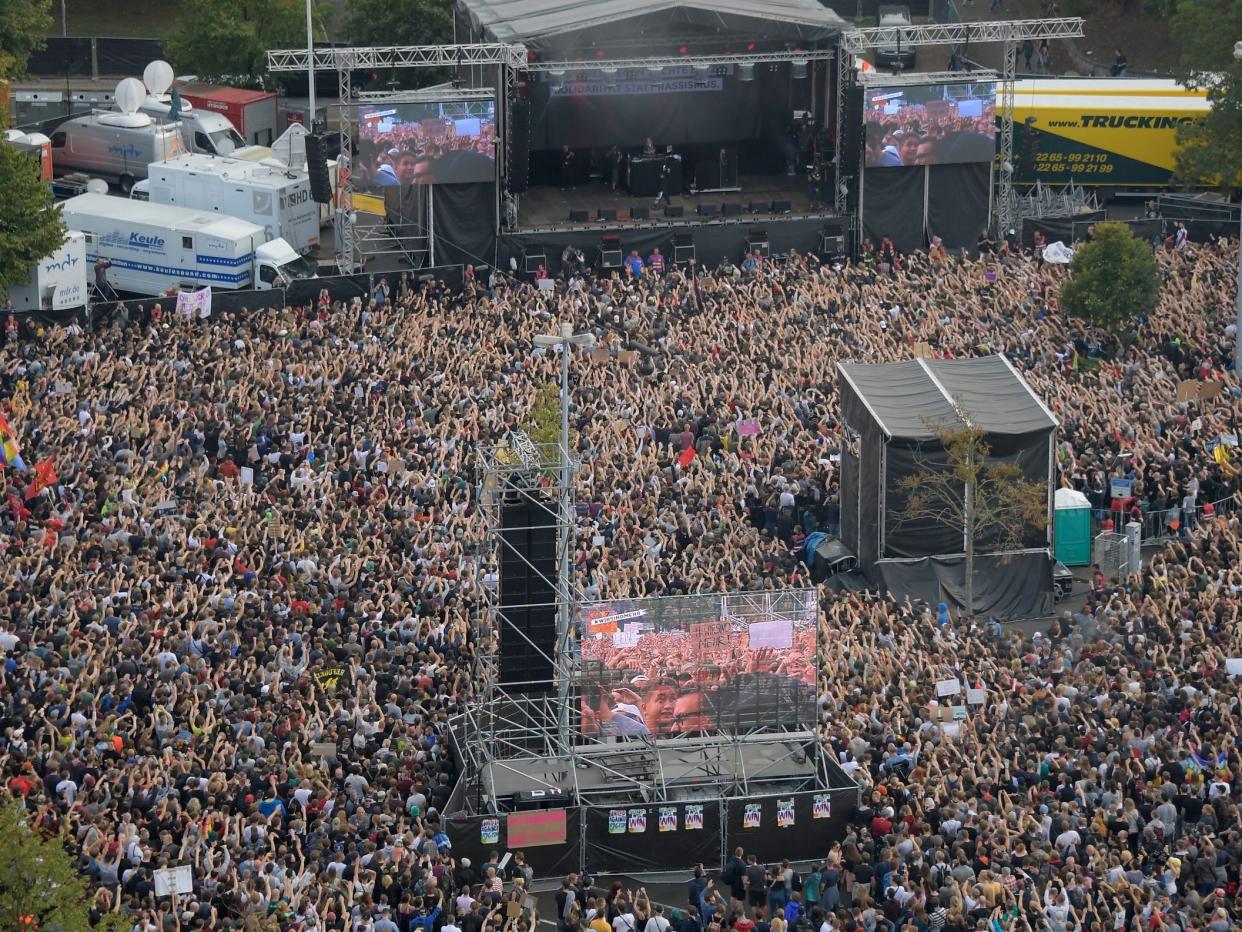
[[556, 502], [512, 492], [501, 505], [501, 683], [512, 692], [551, 686], [556, 655]]

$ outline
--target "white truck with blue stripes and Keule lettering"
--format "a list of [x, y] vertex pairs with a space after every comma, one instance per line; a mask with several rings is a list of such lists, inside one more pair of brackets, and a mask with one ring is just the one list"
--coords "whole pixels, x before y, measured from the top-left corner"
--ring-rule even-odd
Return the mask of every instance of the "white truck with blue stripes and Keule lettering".
[[108, 285], [118, 292], [263, 290], [315, 277], [314, 265], [289, 244], [236, 217], [107, 194], [70, 198], [62, 216], [86, 236], [88, 263], [111, 263]]

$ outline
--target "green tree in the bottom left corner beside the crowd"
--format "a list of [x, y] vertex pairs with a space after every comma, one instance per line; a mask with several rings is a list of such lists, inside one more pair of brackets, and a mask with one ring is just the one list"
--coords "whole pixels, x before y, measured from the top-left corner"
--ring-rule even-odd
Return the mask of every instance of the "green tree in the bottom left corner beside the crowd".
[[73, 869], [67, 839], [35, 831], [31, 814], [14, 799], [0, 802], [0, 928], [120, 932], [133, 922], [108, 913], [92, 927], [91, 893]]

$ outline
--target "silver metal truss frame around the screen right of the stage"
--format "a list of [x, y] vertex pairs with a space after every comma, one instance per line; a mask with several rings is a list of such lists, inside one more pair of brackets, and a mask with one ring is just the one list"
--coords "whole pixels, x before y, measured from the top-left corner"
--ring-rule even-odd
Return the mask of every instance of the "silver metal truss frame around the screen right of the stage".
[[[997, 20], [979, 22], [929, 22], [922, 26], [876, 26], [873, 29], [852, 29], [841, 34], [841, 63], [837, 68], [837, 138], [841, 139], [841, 114], [845, 108], [845, 94], [853, 57], [882, 46], [905, 47], [929, 45], [969, 45], [971, 42], [1004, 42], [1005, 66], [1001, 72], [1001, 139], [1000, 139], [1000, 184], [996, 198], [996, 229], [1005, 232], [1017, 225], [1017, 198], [1013, 194], [1013, 87], [1017, 80], [1017, 50], [1026, 40], [1041, 39], [1078, 39], [1083, 35], [1081, 16], [1063, 16], [1047, 20]], [[848, 63], [845, 67], [842, 63]], [[953, 72], [954, 80], [970, 81], [975, 72]], [[934, 83], [935, 75], [903, 75], [888, 83]], [[879, 77], [874, 78], [882, 83]], [[861, 163], [859, 163], [861, 164]], [[837, 159], [836, 206], [845, 212], [848, 199], [850, 178], [841, 170]]]

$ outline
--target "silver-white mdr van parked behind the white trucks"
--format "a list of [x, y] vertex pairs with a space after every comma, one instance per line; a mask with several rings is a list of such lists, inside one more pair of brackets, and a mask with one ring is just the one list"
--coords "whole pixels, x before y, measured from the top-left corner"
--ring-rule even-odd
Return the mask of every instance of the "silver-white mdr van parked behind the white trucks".
[[84, 171], [116, 181], [129, 194], [153, 162], [180, 155], [181, 133], [145, 113], [88, 113], [67, 119], [52, 133], [56, 174]]

